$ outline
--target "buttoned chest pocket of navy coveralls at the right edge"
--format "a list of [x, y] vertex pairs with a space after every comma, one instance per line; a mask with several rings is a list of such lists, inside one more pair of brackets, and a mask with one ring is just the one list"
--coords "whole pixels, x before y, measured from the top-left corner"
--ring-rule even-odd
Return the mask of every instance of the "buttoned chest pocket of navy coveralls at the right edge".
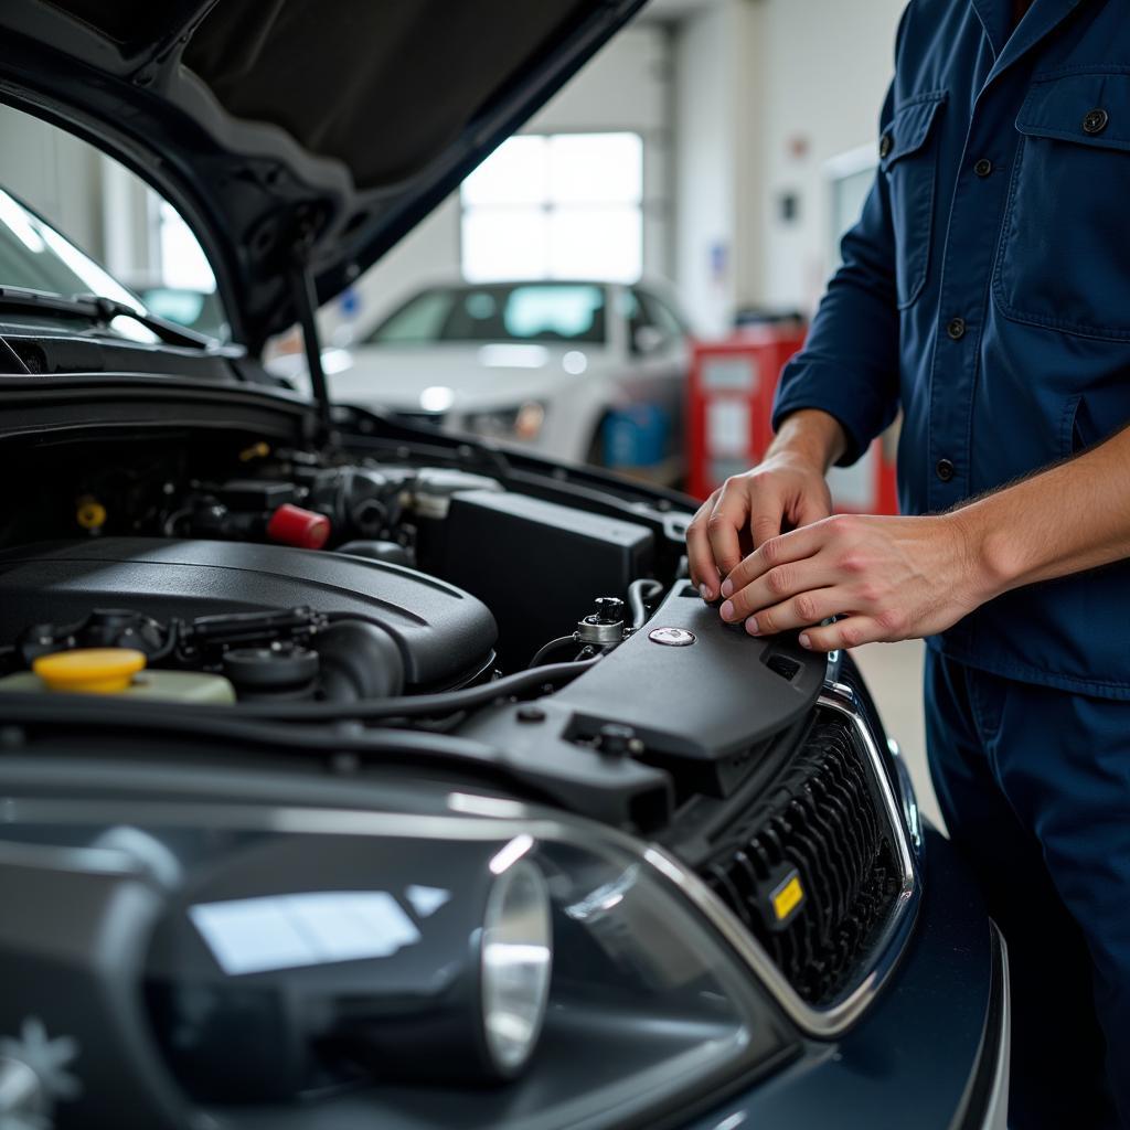
[[1130, 68], [1037, 77], [1016, 128], [997, 305], [1012, 321], [1130, 340]]

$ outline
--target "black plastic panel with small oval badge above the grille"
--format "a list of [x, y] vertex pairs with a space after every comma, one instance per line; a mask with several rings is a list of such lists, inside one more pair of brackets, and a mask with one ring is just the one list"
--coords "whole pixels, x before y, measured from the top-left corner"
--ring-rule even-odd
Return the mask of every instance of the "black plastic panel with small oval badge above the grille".
[[[664, 627], [693, 633], [694, 643], [652, 642], [651, 633]], [[796, 664], [792, 678], [770, 666], [774, 655]], [[825, 666], [824, 655], [794, 641], [755, 640], [728, 627], [680, 583], [640, 632], [574, 683], [532, 710], [480, 711], [459, 732], [504, 749], [558, 803], [649, 835], [671, 832], [677, 805], [705, 794], [707, 814], [662, 836], [687, 858], [684, 841], [731, 819], [763, 765], [799, 744]], [[629, 728], [642, 748], [620, 740], [614, 749], [606, 725], [621, 739]]]

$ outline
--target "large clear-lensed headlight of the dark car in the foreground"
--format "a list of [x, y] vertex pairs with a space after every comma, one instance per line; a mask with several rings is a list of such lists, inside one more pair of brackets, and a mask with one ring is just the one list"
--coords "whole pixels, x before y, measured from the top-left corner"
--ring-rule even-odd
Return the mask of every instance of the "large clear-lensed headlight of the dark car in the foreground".
[[103, 866], [121, 853], [123, 875], [153, 877], [163, 910], [137, 928], [148, 1038], [189, 1101], [276, 1127], [319, 1104], [345, 1104], [350, 1125], [653, 1124], [793, 1045], [643, 845], [427, 798], [398, 812], [133, 801], [85, 831], [73, 805], [3, 838], [98, 845]]

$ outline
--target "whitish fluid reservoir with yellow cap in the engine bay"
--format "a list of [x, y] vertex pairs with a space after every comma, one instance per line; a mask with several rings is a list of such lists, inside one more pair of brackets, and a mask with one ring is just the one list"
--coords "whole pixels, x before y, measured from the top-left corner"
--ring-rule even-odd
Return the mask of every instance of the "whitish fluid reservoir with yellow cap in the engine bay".
[[76, 647], [41, 655], [33, 670], [0, 678], [0, 690], [24, 694], [122, 695], [162, 702], [234, 703], [232, 684], [199, 671], [146, 670], [130, 647]]

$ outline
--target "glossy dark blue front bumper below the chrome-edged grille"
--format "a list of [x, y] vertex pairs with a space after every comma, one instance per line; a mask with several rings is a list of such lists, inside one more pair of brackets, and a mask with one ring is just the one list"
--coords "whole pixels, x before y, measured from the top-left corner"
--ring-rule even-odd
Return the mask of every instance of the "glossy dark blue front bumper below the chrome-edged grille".
[[686, 1130], [1005, 1130], [1003, 939], [949, 842], [927, 828], [918, 924], [867, 1015]]

